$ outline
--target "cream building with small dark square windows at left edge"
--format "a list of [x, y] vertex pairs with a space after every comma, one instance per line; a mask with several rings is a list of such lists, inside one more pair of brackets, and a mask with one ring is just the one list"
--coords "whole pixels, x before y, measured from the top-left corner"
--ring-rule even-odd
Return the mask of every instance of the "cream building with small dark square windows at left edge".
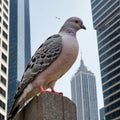
[[0, 120], [6, 120], [9, 62], [9, 0], [0, 0]]

